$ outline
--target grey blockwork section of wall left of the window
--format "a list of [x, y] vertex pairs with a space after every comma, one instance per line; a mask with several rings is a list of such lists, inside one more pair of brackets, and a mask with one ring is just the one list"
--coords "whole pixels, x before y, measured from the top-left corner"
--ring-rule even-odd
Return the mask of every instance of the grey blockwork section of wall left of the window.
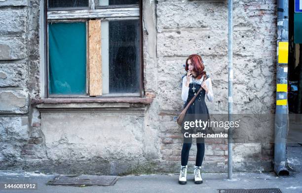
[[[39, 0], [0, 1], [0, 168], [22, 168], [38, 97]], [[39, 152], [39, 151], [37, 151]]]

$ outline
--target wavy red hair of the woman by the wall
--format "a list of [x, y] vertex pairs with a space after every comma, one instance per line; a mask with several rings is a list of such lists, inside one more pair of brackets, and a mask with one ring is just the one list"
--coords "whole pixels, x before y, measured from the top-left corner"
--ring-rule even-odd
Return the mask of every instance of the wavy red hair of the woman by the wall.
[[186, 60], [186, 71], [189, 70], [188, 60], [190, 60], [191, 64], [193, 64], [193, 66], [194, 66], [193, 71], [196, 72], [197, 79], [200, 79], [201, 76], [204, 75], [203, 76], [203, 80], [204, 80], [207, 72], [204, 71], [204, 64], [203, 64], [201, 56], [199, 56], [197, 54], [190, 55], [189, 58]]

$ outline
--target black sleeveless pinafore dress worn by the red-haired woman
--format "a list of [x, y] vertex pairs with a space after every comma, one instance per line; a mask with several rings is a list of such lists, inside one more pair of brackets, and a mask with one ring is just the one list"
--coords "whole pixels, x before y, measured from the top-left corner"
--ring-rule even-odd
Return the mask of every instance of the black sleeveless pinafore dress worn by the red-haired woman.
[[[193, 87], [195, 88], [195, 90], [193, 90]], [[186, 107], [187, 104], [189, 103], [189, 101], [194, 97], [194, 93], [197, 94], [200, 87], [201, 87], [200, 84], [196, 84], [196, 83], [195, 84], [194, 83], [189, 84], [189, 95], [188, 95], [188, 99], [187, 99], [186, 103], [184, 104], [184, 107]], [[209, 116], [208, 107], [205, 103], [205, 90], [204, 89], [202, 89], [200, 91], [200, 93], [198, 94], [198, 96], [196, 96], [193, 103], [189, 106], [189, 108], [186, 112], [186, 116], [184, 118], [184, 121], [182, 123], [182, 133], [185, 133], [185, 132], [189, 132], [189, 133], [203, 132], [203, 133], [206, 133], [206, 130], [210, 129], [210, 127], [205, 127], [204, 129], [199, 128], [199, 127], [194, 127], [194, 128], [190, 127], [190, 129], [184, 129], [184, 122], [185, 121], [195, 122], [195, 120], [198, 120], [198, 121], [201, 120], [201, 121], [209, 122], [209, 123], [211, 121], [210, 116]]]

